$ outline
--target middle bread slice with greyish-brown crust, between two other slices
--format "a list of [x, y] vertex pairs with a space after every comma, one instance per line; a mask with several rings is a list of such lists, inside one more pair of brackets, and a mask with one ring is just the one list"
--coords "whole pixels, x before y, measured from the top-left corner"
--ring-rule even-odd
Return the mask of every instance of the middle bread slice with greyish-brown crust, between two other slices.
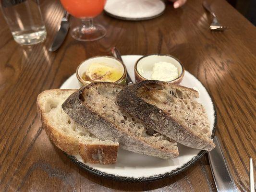
[[69, 96], [62, 108], [99, 139], [118, 142], [125, 150], [163, 159], [178, 156], [176, 142], [120, 110], [116, 96], [123, 88], [108, 82], [89, 84]]

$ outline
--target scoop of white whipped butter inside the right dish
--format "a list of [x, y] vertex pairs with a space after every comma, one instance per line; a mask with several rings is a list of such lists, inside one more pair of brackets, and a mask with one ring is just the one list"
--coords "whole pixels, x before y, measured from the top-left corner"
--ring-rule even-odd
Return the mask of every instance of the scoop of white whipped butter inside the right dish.
[[169, 62], [157, 62], [153, 64], [152, 80], [172, 81], [179, 77], [178, 68]]

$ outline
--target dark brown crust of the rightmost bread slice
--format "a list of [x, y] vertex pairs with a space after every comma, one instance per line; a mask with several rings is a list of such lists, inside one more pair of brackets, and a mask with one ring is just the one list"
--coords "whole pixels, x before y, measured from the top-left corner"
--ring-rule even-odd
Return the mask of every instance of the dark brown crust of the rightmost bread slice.
[[[193, 129], [189, 129], [189, 127], [179, 123], [175, 117], [171, 117], [161, 108], [151, 105], [147, 103], [145, 99], [139, 97], [138, 90], [143, 86], [146, 87], [149, 85], [155, 85], [156, 90], [162, 89], [162, 86], [179, 87], [179, 89], [188, 92], [191, 97], [199, 97], [198, 92], [194, 89], [175, 84], [167, 84], [160, 81], [148, 80], [122, 89], [117, 95], [117, 103], [119, 107], [138, 119], [143, 120], [147, 126], [153, 128], [155, 131], [170, 137], [178, 143], [207, 151], [210, 151], [215, 147], [212, 139], [209, 138], [210, 136], [206, 137], [198, 135]], [[210, 133], [209, 130], [208, 132]]]

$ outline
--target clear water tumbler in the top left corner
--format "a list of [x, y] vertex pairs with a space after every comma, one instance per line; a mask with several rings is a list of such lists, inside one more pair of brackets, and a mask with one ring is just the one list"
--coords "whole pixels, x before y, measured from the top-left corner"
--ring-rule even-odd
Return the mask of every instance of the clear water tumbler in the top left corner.
[[46, 38], [38, 0], [0, 0], [0, 7], [17, 43], [33, 45]]

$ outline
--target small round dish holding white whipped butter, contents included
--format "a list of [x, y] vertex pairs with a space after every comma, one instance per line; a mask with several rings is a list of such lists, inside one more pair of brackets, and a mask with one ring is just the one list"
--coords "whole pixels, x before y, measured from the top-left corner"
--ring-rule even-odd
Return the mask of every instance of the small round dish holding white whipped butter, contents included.
[[136, 82], [158, 80], [180, 84], [184, 72], [183, 64], [171, 55], [146, 55], [137, 60], [134, 65]]

